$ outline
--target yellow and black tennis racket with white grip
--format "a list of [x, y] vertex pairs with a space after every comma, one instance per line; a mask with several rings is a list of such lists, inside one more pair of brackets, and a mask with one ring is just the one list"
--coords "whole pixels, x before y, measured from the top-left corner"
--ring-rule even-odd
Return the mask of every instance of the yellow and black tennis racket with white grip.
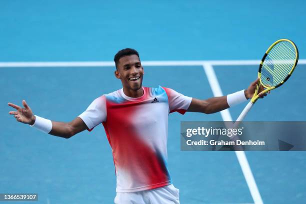
[[[259, 98], [282, 85], [292, 74], [298, 61], [298, 50], [294, 42], [289, 39], [275, 41], [264, 53], [258, 69], [258, 83], [255, 92], [234, 123], [236, 127]], [[258, 93], [262, 85], [265, 89]]]

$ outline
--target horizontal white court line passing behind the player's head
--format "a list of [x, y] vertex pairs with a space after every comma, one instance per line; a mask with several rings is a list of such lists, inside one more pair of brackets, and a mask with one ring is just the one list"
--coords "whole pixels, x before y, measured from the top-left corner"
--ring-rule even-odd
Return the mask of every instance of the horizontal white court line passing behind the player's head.
[[[259, 65], [260, 60], [191, 60], [191, 61], [141, 61], [143, 66], [202, 66], [216, 65]], [[299, 59], [298, 64], [306, 64], [306, 59]], [[67, 67], [67, 66], [114, 66], [113, 61], [21, 61], [0, 62], [0, 67]]]

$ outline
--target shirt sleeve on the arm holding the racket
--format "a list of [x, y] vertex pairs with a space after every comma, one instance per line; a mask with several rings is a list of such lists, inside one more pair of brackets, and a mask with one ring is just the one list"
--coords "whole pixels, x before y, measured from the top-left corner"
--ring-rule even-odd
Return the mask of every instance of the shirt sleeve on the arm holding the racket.
[[169, 113], [176, 111], [184, 114], [191, 103], [192, 97], [185, 96], [171, 88], [163, 87], [163, 89], [168, 96]]

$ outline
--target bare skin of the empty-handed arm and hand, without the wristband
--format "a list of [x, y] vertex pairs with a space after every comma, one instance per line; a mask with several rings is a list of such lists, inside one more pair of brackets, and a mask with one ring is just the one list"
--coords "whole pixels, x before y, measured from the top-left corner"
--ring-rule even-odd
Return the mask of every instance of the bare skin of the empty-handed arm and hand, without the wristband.
[[[31, 108], [26, 104], [25, 100], [22, 100], [23, 108], [10, 102], [8, 105], [16, 109], [16, 111], [9, 111], [8, 113], [14, 115], [18, 122], [29, 125], [34, 124], [36, 120], [35, 115], [33, 115]], [[51, 130], [48, 133], [64, 138], [69, 138], [74, 134], [87, 129], [86, 124], [79, 117], [76, 117], [70, 122], [51, 121], [51, 124]]]

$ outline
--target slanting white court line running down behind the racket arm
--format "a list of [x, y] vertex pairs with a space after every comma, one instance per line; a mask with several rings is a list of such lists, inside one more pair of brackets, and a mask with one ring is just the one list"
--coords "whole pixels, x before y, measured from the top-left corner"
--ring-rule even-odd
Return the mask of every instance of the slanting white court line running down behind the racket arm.
[[[220, 88], [220, 84], [218, 82], [218, 79], [216, 78], [212, 65], [209, 63], [205, 63], [203, 64], [203, 69], [207, 75], [208, 82], [212, 89], [213, 95], [222, 96], [223, 94]], [[231, 118], [231, 115], [228, 109], [222, 110], [220, 113], [224, 121], [232, 121], [232, 118]], [[249, 191], [251, 193], [254, 203], [255, 204], [263, 203], [244, 151], [235, 151], [235, 153], [236, 153], [237, 159], [239, 161], [240, 167], [242, 169], [244, 178], [246, 180], [247, 186], [249, 188]]]

